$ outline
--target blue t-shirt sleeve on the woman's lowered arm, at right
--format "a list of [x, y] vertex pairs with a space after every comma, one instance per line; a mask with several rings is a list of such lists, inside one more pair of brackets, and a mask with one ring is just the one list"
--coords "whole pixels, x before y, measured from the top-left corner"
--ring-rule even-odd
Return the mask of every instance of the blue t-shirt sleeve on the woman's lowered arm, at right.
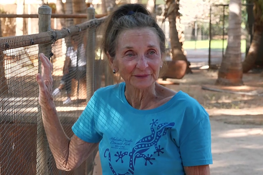
[[[201, 105], [200, 105], [200, 108]], [[189, 111], [190, 112], [190, 111]], [[193, 111], [191, 111], [193, 112]], [[188, 113], [188, 115], [190, 115]], [[180, 154], [183, 166], [200, 166], [209, 165], [213, 163], [211, 153], [211, 125], [209, 115], [204, 109], [200, 109], [196, 115], [189, 117], [191, 121], [187, 120], [189, 125], [186, 125], [189, 132], [182, 138], [179, 145]], [[185, 116], [187, 117], [187, 116]]]

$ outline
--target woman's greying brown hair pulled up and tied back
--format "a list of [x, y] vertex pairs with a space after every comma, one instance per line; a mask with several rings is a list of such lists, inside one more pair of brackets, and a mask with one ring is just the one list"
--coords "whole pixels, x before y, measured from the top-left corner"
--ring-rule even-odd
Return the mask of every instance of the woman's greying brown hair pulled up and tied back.
[[150, 12], [141, 4], [125, 4], [118, 7], [109, 17], [106, 23], [106, 30], [102, 40], [102, 50], [115, 57], [117, 40], [124, 30], [136, 28], [153, 29], [160, 39], [160, 51], [165, 52], [165, 35], [158, 26]]

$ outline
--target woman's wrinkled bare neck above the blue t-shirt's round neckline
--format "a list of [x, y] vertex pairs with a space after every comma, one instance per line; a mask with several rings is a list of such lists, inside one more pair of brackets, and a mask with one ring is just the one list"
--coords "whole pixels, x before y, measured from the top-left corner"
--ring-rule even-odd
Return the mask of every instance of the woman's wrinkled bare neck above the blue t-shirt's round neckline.
[[[153, 83], [152, 86], [146, 89], [137, 89], [134, 86], [126, 84], [125, 97], [128, 103], [135, 109], [144, 110], [152, 106], [158, 100], [157, 85]], [[152, 103], [151, 103], [152, 102]]]

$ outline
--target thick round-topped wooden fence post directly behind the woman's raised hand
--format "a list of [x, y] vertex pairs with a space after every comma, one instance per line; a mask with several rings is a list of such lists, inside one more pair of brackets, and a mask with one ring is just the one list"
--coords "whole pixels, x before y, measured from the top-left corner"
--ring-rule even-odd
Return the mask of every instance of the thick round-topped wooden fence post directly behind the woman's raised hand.
[[[38, 8], [38, 32], [51, 30], [52, 9], [47, 5]], [[39, 44], [38, 53], [44, 53], [48, 58], [51, 56], [51, 44]], [[38, 73], [41, 73], [41, 61], [38, 57]], [[38, 104], [38, 127], [37, 127], [37, 175], [48, 174], [49, 147], [44, 130], [41, 108]]]

